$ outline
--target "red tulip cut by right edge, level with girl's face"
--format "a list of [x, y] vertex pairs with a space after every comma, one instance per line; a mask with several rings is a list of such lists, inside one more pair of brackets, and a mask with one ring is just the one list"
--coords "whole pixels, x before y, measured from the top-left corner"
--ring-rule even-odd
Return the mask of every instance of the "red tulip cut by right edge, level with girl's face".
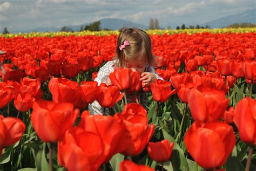
[[256, 80], [256, 60], [246, 60], [244, 62], [243, 71], [247, 79]]

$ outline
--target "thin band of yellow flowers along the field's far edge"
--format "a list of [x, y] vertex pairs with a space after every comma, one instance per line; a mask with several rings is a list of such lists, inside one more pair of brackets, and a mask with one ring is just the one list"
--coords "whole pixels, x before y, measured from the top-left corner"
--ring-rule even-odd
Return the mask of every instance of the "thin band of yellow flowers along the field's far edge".
[[[174, 33], [187, 33], [188, 35], [192, 35], [194, 33], [203, 33], [203, 32], [210, 32], [210, 33], [250, 33], [255, 32], [256, 28], [224, 28], [224, 29], [184, 29], [184, 30], [172, 30], [172, 29], [165, 29], [165, 30], [146, 30], [149, 35], [163, 35], [164, 33], [168, 35], [172, 35]], [[87, 36], [87, 35], [95, 35], [95, 36], [110, 36], [110, 35], [118, 35], [118, 30], [115, 31], [82, 31], [82, 32], [30, 32], [30, 33], [10, 33], [3, 35], [0, 33], [0, 37], [6, 38], [13, 38], [13, 37], [55, 37], [55, 36]]]

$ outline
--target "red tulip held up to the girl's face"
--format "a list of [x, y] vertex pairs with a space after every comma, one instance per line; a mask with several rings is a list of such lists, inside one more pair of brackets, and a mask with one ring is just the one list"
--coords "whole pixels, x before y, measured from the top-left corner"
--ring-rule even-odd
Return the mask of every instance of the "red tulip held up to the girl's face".
[[120, 90], [128, 93], [137, 92], [140, 90], [141, 81], [139, 72], [133, 72], [129, 68], [118, 68], [110, 73], [109, 78], [111, 83], [117, 86]]

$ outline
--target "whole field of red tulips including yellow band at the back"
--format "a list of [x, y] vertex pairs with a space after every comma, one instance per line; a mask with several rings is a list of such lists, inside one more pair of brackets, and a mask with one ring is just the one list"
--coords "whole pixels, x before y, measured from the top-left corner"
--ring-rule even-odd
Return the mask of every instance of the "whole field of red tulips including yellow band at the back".
[[256, 170], [256, 29], [147, 32], [150, 86], [94, 81], [118, 31], [0, 35], [0, 170]]

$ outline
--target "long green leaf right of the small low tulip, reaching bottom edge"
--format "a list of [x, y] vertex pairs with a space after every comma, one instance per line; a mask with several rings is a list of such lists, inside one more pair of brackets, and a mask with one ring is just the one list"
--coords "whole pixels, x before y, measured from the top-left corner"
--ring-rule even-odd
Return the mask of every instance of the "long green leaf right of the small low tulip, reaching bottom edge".
[[183, 150], [179, 147], [176, 141], [174, 141], [173, 137], [168, 134], [164, 129], [162, 129], [164, 139], [169, 140], [170, 142], [174, 142], [171, 161], [172, 167], [174, 170], [188, 171], [188, 164], [185, 158]]

